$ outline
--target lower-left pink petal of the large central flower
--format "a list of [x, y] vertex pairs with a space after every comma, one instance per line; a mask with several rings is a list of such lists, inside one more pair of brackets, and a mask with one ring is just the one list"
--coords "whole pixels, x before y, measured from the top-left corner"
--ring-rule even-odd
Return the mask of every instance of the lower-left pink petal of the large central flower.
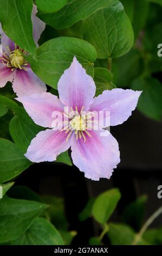
[[62, 152], [70, 147], [70, 140], [66, 141], [66, 133], [54, 130], [41, 131], [31, 141], [25, 156], [31, 162], [52, 162]]

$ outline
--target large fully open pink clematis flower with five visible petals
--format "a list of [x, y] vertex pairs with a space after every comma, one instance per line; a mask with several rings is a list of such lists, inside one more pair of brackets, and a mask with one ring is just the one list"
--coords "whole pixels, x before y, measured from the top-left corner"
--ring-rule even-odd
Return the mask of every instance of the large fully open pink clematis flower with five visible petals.
[[[86, 74], [75, 57], [61, 76], [58, 90], [60, 99], [50, 93], [17, 98], [36, 124], [49, 127], [31, 141], [25, 156], [32, 162], [54, 161], [71, 147], [73, 163], [87, 178], [109, 179], [120, 162], [118, 142], [109, 132], [108, 136], [101, 136], [101, 127], [89, 130], [89, 113], [108, 111], [112, 126], [122, 124], [137, 106], [141, 92], [116, 88], [94, 97], [93, 78]], [[69, 115], [64, 114], [66, 125], [61, 130], [51, 129], [53, 113], [64, 113], [64, 107], [71, 109]]]

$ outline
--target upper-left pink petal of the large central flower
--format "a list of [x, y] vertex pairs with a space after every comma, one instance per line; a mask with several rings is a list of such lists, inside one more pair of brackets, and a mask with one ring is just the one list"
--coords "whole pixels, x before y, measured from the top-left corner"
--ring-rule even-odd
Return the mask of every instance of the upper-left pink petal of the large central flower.
[[31, 96], [18, 97], [34, 122], [43, 127], [52, 127], [54, 111], [63, 111], [61, 101], [51, 93], [34, 94]]

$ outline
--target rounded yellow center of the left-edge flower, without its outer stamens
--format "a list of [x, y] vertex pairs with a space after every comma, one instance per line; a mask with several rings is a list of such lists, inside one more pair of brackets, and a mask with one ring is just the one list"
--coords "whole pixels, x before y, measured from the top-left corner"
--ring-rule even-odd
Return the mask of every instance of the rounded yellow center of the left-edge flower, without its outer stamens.
[[25, 60], [22, 55], [22, 52], [18, 49], [10, 53], [10, 63], [13, 68], [22, 69], [21, 66], [24, 64]]

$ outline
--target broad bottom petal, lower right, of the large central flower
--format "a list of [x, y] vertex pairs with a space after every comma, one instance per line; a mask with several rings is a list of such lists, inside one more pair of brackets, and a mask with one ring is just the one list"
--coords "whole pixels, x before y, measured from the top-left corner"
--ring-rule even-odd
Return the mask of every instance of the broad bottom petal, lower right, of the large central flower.
[[73, 163], [85, 173], [85, 177], [92, 180], [111, 178], [113, 169], [120, 162], [119, 146], [116, 139], [109, 133], [100, 136], [100, 131], [89, 131], [92, 137], [76, 140], [71, 139]]

